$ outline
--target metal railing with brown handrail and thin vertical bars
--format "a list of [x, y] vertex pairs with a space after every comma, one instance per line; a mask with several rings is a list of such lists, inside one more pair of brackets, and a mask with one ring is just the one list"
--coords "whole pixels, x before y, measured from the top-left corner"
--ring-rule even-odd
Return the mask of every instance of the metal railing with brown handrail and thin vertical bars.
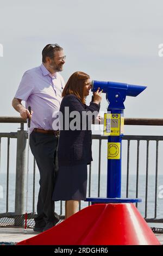
[[[22, 118], [14, 118], [14, 117], [0, 117], [0, 123], [20, 123], [20, 131], [17, 132], [9, 132], [9, 133], [0, 133], [0, 163], [1, 163], [1, 138], [8, 138], [7, 142], [7, 192], [6, 192], [6, 212], [0, 214], [0, 217], [9, 216], [9, 159], [10, 159], [10, 139], [17, 139], [17, 147], [16, 147], [16, 186], [15, 186], [15, 212], [11, 214], [22, 215], [24, 214], [24, 205], [25, 205], [25, 180], [26, 180], [26, 145], [27, 145], [27, 131], [24, 131], [24, 123], [26, 120]], [[124, 125], [153, 125], [153, 126], [162, 126], [163, 119], [135, 119], [135, 118], [126, 118], [124, 120]], [[101, 135], [92, 135], [93, 140], [98, 140], [98, 187], [97, 187], [97, 197], [100, 196], [101, 193], [101, 157], [102, 157], [102, 142], [106, 141], [106, 136]], [[140, 178], [140, 142], [146, 142], [146, 175], [145, 175], [145, 219], [147, 222], [159, 222], [163, 223], [163, 210], [161, 212], [161, 217], [157, 217], [157, 206], [158, 206], [158, 155], [159, 155], [159, 142], [163, 141], [163, 136], [123, 136], [123, 141], [127, 141], [127, 170], [126, 170], [126, 197], [129, 197], [129, 174], [130, 174], [130, 142], [137, 142], [137, 157], [136, 157], [136, 187], [135, 187], [135, 197], [139, 197], [139, 178]], [[156, 150], [155, 150], [155, 185], [154, 185], [154, 217], [148, 218], [148, 179], [149, 179], [149, 142], [155, 141]], [[36, 164], [35, 160], [33, 160], [33, 202], [32, 209], [33, 213], [35, 212], [35, 173], [36, 173]], [[162, 173], [163, 174], [163, 173]], [[89, 167], [89, 182], [88, 182], [88, 196], [91, 197], [91, 185], [92, 185], [92, 164]], [[90, 205], [90, 202], [87, 203]], [[137, 204], [136, 204], [137, 206]], [[79, 209], [82, 208], [82, 205], [79, 206]], [[62, 211], [62, 202], [60, 202], [60, 215], [63, 214]]]

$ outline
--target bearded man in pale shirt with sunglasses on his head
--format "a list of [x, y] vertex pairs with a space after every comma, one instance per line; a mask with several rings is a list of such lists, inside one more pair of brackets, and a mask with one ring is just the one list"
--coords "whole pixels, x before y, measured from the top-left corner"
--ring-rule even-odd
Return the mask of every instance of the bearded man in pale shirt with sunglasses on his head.
[[[42, 50], [42, 64], [26, 71], [12, 100], [22, 118], [32, 118], [30, 149], [40, 172], [40, 191], [34, 231], [52, 228], [59, 216], [54, 212], [52, 193], [58, 169], [57, 145], [59, 131], [53, 130], [54, 113], [59, 111], [65, 82], [59, 71], [65, 64], [63, 48], [48, 44]], [[21, 101], [26, 101], [24, 107]], [[32, 108], [32, 114], [28, 111]]]

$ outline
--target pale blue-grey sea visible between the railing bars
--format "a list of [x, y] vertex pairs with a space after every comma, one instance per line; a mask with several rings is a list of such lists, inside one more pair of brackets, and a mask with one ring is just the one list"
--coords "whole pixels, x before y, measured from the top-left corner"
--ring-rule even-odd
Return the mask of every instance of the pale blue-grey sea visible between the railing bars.
[[[29, 173], [28, 176], [28, 209], [27, 212], [33, 211], [33, 174]], [[88, 176], [89, 180], [89, 176]], [[100, 180], [100, 197], [106, 197], [106, 174], [101, 174]], [[8, 195], [8, 212], [14, 212], [15, 209], [15, 182], [16, 175], [15, 173], [9, 174], [9, 195]], [[89, 184], [89, 182], [88, 182]], [[121, 197], [126, 198], [126, 184], [127, 176], [122, 175], [121, 182]], [[163, 218], [163, 175], [158, 176], [158, 194], [157, 194], [157, 215], [156, 218]], [[139, 175], [139, 193], [138, 197], [142, 199], [141, 203], [137, 204], [137, 209], [140, 214], [145, 217], [145, 197], [146, 197], [146, 175]], [[98, 174], [91, 173], [91, 197], [98, 197]], [[39, 192], [39, 173], [36, 172], [35, 175], [35, 212], [37, 197]], [[89, 196], [89, 187], [87, 186], [87, 196]], [[129, 194], [128, 197], [136, 197], [136, 175], [129, 175]], [[0, 173], [0, 213], [6, 212], [7, 205], [7, 174]], [[87, 202], [81, 202], [81, 208], [85, 208], [88, 205]], [[60, 212], [60, 202], [55, 203], [55, 211], [58, 214], [65, 214], [64, 211], [64, 202], [62, 205], [62, 212]], [[148, 176], [148, 199], [147, 199], [147, 218], [154, 218], [155, 211], [155, 176]], [[149, 223], [151, 227], [163, 228], [163, 223]]]

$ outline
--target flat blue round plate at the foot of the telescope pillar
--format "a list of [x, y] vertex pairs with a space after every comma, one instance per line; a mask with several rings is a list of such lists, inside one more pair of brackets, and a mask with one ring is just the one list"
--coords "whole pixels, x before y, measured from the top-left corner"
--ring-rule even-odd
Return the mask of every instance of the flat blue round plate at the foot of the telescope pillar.
[[85, 202], [91, 202], [92, 204], [108, 204], [108, 203], [140, 203], [141, 198], [93, 198], [87, 197]]

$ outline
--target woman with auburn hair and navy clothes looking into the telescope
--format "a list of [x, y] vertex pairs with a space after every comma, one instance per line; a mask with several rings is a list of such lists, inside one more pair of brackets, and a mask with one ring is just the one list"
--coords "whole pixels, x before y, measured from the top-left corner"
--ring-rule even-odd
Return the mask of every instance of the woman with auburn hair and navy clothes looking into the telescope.
[[[91, 129], [89, 130], [88, 127], [89, 120], [82, 118], [82, 116], [94, 112], [96, 118], [102, 99], [102, 91], [99, 92], [98, 88], [97, 92], [94, 93], [93, 102], [91, 101], [90, 105], [86, 106], [85, 98], [89, 95], [90, 89], [90, 76], [77, 71], [71, 75], [62, 92], [60, 113], [62, 113], [63, 129], [60, 131], [59, 171], [52, 200], [66, 201], [65, 218], [75, 214], [78, 211], [79, 201], [86, 199], [87, 164], [92, 161], [92, 139]], [[71, 113], [75, 113], [72, 111], [77, 111], [76, 115], [78, 116], [76, 122], [72, 121], [70, 116], [68, 117], [68, 128], [65, 121], [67, 118], [65, 107], [68, 107], [70, 116]], [[72, 124], [76, 125], [77, 129], [72, 127]]]

